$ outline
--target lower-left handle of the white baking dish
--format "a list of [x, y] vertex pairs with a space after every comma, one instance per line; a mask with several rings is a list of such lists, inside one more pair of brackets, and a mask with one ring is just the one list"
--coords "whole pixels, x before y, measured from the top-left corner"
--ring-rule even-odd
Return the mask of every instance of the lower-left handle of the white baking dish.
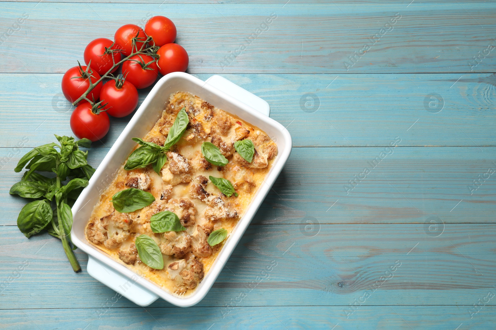
[[158, 295], [136, 283], [137, 275], [133, 275], [134, 279], [128, 279], [90, 255], [88, 255], [87, 271], [91, 277], [104, 283], [136, 305], [148, 306], [158, 299]]

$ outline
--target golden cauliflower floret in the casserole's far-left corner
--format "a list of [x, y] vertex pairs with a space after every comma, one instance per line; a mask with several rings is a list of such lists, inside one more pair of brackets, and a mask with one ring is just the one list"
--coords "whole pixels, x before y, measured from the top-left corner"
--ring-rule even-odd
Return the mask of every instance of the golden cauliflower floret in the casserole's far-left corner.
[[125, 213], [119, 213], [115, 210], [98, 220], [93, 220], [86, 229], [88, 239], [95, 244], [103, 242], [103, 245], [109, 249], [115, 249], [121, 243], [129, 238], [129, 229], [132, 220]]

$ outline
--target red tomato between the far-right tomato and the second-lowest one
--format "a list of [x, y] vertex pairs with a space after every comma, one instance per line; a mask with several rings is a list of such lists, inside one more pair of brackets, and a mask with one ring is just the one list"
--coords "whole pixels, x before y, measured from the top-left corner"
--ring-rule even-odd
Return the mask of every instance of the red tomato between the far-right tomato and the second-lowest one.
[[146, 88], [158, 77], [157, 62], [148, 55], [134, 55], [123, 63], [123, 75], [138, 90]]

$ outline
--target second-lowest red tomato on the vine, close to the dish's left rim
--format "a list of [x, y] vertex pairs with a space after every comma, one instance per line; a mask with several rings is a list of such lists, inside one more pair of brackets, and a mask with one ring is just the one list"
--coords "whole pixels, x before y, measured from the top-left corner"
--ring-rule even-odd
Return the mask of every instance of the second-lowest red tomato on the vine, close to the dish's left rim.
[[111, 80], [103, 85], [100, 99], [109, 115], [125, 117], [138, 105], [138, 91], [133, 84], [124, 79], [115, 82]]

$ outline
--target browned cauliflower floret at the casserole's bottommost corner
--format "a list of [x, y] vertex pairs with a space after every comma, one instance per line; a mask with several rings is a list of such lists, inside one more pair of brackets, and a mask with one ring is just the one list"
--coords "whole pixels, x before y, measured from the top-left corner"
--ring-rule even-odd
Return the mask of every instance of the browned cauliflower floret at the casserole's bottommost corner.
[[197, 259], [174, 261], [167, 266], [169, 278], [176, 283], [176, 292], [184, 293], [194, 289], [203, 280], [203, 263]]

